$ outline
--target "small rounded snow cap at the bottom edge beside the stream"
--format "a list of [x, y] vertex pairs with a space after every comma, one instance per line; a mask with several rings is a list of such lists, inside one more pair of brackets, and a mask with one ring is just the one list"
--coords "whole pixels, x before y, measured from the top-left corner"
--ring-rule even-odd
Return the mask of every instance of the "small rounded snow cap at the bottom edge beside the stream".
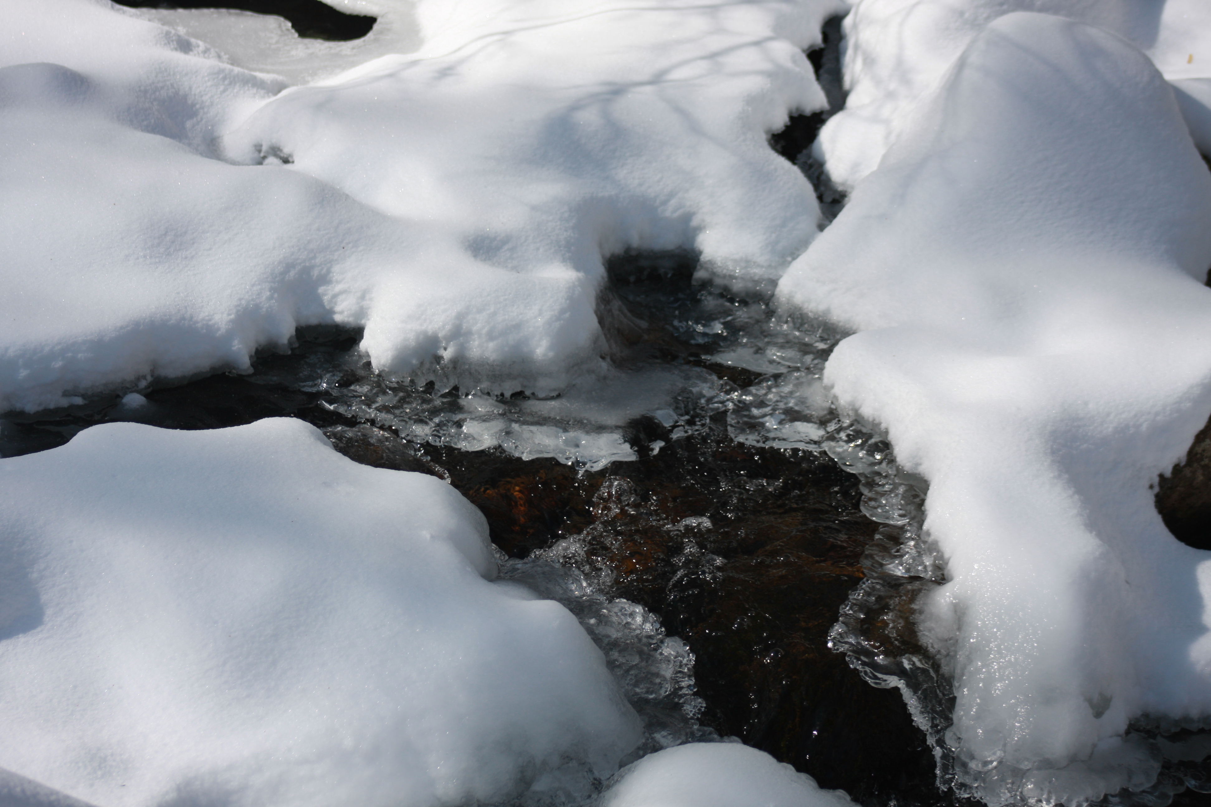
[[764, 751], [739, 743], [689, 743], [624, 768], [601, 807], [853, 807]]

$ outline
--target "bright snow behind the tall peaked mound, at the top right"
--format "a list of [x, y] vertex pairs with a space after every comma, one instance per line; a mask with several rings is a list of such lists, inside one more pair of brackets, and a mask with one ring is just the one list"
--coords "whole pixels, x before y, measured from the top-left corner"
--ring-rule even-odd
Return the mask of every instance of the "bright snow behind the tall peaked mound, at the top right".
[[1015, 11], [1113, 31], [1167, 79], [1211, 76], [1211, 6], [1203, 0], [856, 0], [844, 23], [849, 98], [814, 146], [833, 181], [849, 189], [874, 171], [968, 42]]

